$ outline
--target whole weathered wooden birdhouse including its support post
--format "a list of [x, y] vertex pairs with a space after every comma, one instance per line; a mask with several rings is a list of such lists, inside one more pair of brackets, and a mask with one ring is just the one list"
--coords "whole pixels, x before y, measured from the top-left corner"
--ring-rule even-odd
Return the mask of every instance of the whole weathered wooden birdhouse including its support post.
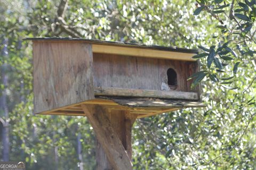
[[[191, 89], [187, 81], [199, 69], [192, 58], [197, 50], [89, 39], [31, 40], [34, 112], [87, 116], [114, 169], [131, 168], [135, 118], [203, 106], [199, 86]], [[115, 148], [118, 142], [122, 145]]]

